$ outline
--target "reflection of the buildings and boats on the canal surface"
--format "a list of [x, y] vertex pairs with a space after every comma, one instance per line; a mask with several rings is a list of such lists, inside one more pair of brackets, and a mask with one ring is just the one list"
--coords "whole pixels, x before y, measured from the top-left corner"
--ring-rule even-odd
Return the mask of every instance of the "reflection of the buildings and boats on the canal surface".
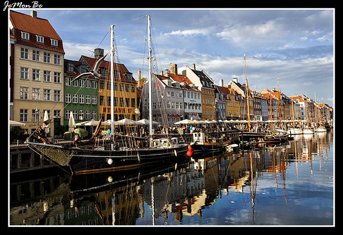
[[[99, 173], [60, 176], [10, 184], [11, 225], [169, 225], [185, 217], [202, 217], [218, 199], [230, 193], [251, 198], [255, 223], [259, 175], [269, 173], [275, 188], [283, 188], [289, 164], [320, 161], [332, 146], [332, 134], [296, 136], [287, 145], [267, 146], [221, 156], [191, 158], [165, 169], [129, 175]], [[67, 180], [65, 178], [67, 177]]]

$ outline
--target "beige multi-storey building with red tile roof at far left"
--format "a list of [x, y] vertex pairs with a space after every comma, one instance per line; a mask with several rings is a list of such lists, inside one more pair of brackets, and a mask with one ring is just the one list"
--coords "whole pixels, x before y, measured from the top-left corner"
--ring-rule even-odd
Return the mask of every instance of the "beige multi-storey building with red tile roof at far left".
[[16, 39], [12, 57], [10, 90], [13, 91], [14, 121], [26, 125], [28, 134], [51, 119], [49, 136], [58, 133], [63, 116], [64, 49], [62, 39], [46, 19], [10, 10], [10, 31]]

